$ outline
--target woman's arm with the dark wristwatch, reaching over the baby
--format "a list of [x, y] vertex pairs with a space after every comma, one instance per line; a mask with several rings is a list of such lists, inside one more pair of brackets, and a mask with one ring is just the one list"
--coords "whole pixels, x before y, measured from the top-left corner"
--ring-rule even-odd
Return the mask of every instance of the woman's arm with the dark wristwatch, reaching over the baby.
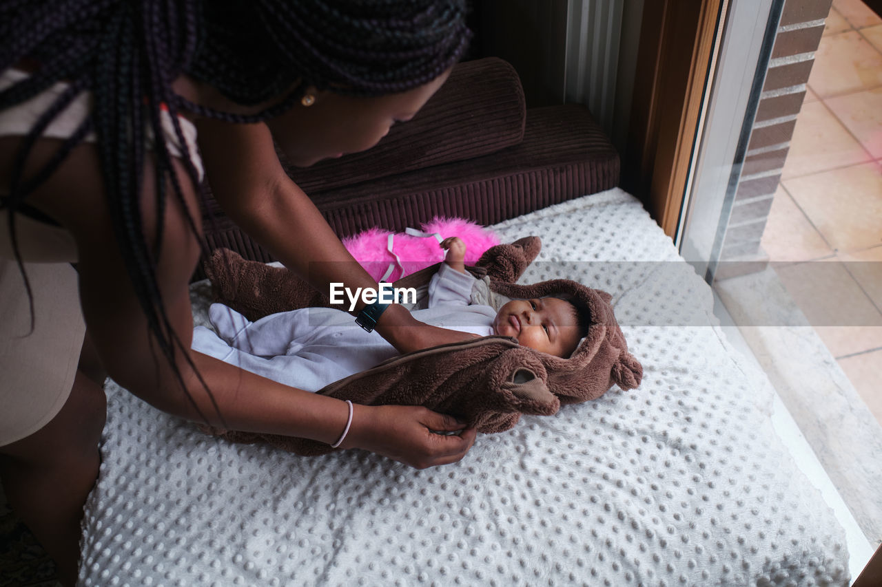
[[[377, 281], [353, 259], [316, 205], [285, 173], [264, 124], [204, 120], [198, 130], [214, 197], [245, 232], [325, 294], [332, 282], [353, 290], [377, 288]], [[362, 307], [359, 302], [355, 312]], [[380, 316], [377, 332], [400, 352], [470, 338], [420, 323], [397, 304]]]

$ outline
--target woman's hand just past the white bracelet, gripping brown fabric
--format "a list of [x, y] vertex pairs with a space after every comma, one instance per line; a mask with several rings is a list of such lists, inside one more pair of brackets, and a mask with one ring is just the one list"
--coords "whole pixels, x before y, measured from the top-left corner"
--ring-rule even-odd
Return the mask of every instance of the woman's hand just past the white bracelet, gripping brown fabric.
[[352, 427], [340, 446], [425, 469], [459, 461], [472, 448], [475, 435], [475, 428], [421, 406], [355, 405]]

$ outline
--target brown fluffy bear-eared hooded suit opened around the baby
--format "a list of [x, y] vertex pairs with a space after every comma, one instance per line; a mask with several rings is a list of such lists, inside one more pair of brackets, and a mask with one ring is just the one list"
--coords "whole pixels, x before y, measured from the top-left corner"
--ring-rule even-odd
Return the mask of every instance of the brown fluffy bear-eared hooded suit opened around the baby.
[[[514, 338], [491, 336], [436, 346], [386, 360], [318, 390], [363, 405], [424, 405], [466, 421], [482, 433], [513, 427], [522, 413], [552, 415], [561, 404], [598, 398], [613, 384], [636, 388], [643, 370], [628, 352], [611, 296], [569, 279], [521, 286], [515, 280], [533, 260], [539, 240], [527, 237], [487, 251], [473, 272], [490, 276], [490, 289], [509, 298], [549, 295], [569, 299], [590, 316], [587, 335], [568, 359], [519, 346]], [[428, 282], [437, 265], [407, 276], [396, 286]], [[217, 301], [250, 320], [284, 311], [324, 306], [304, 281], [286, 269], [246, 261], [219, 250], [206, 262]], [[206, 429], [236, 442], [268, 442], [299, 455], [332, 452], [329, 445], [303, 438]]]

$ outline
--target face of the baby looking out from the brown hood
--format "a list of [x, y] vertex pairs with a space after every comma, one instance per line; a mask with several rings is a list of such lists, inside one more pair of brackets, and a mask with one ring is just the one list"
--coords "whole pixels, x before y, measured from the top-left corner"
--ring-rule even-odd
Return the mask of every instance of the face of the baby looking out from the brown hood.
[[499, 308], [493, 332], [518, 339], [519, 344], [564, 359], [579, 344], [576, 311], [559, 298], [512, 300]]

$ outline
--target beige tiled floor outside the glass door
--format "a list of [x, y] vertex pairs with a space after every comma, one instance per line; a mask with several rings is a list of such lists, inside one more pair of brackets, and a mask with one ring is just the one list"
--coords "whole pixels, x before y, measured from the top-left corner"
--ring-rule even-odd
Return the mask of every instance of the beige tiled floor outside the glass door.
[[882, 423], [882, 19], [861, 0], [833, 0], [762, 247]]

